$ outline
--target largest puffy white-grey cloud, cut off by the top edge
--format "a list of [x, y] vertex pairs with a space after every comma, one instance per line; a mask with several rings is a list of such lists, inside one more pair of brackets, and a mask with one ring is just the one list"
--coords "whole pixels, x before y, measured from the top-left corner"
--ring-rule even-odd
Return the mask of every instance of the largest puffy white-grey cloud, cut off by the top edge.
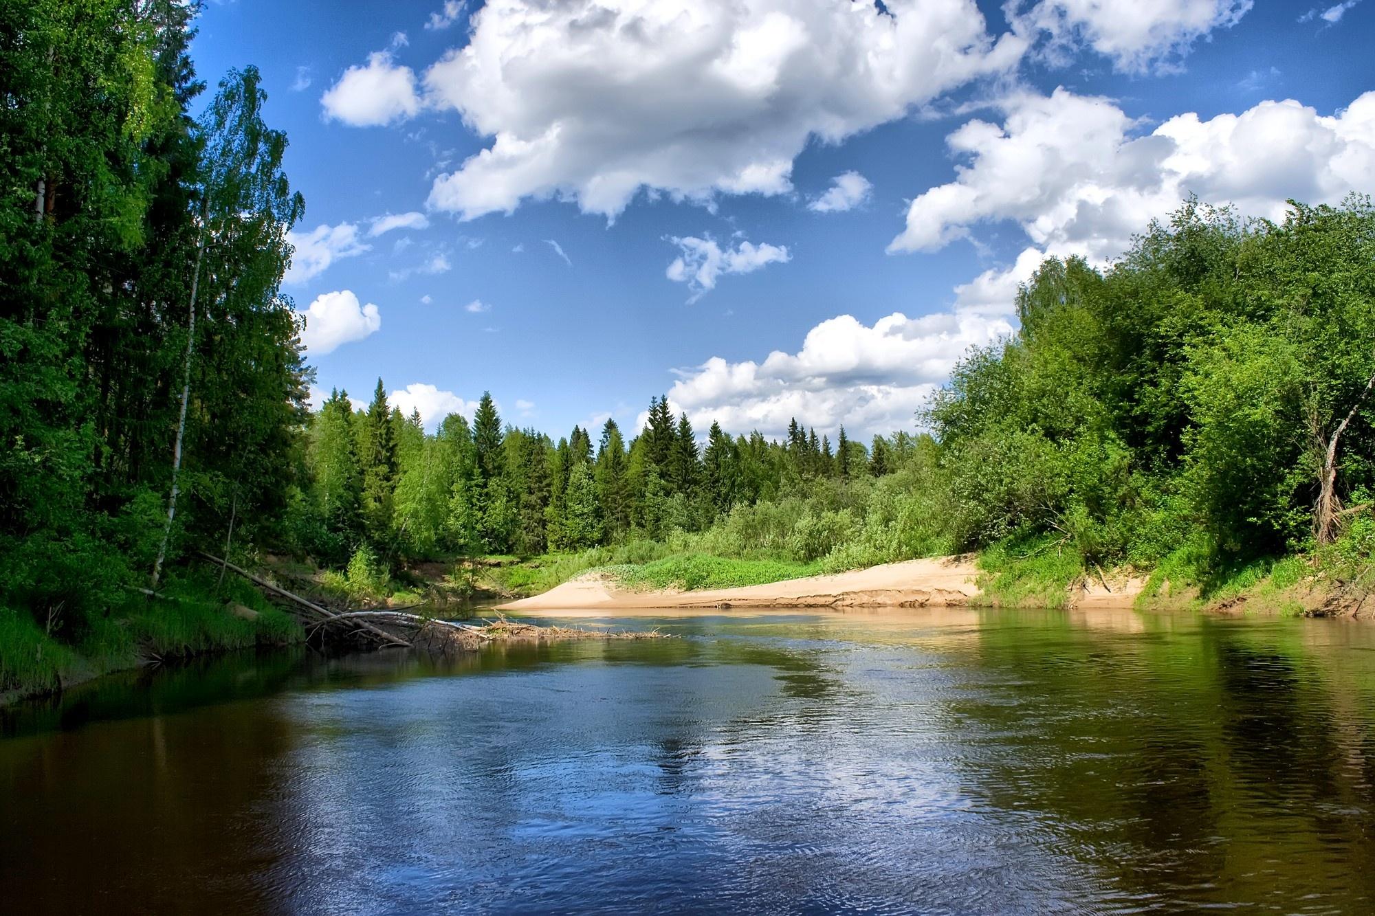
[[791, 190], [793, 158], [990, 76], [1027, 41], [994, 39], [974, 0], [491, 0], [424, 74], [426, 99], [491, 138], [434, 179], [461, 219], [527, 198], [619, 215], [675, 199]]

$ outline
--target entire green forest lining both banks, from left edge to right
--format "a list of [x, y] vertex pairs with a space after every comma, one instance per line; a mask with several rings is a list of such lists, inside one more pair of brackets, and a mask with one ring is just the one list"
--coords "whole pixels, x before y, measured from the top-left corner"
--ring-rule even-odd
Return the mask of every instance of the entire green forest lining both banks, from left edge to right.
[[422, 564], [521, 591], [965, 552], [1008, 602], [1126, 565], [1204, 596], [1314, 569], [1367, 587], [1368, 197], [1280, 221], [1188, 199], [1106, 268], [1048, 260], [1016, 334], [868, 441], [806, 417], [784, 440], [700, 430], [664, 397], [644, 429], [556, 441], [484, 395], [430, 433], [382, 380], [366, 408], [308, 407], [287, 138], [253, 67], [201, 99], [194, 11], [0, 8], [0, 693], [301, 638], [198, 550], [290, 557], [349, 600]]

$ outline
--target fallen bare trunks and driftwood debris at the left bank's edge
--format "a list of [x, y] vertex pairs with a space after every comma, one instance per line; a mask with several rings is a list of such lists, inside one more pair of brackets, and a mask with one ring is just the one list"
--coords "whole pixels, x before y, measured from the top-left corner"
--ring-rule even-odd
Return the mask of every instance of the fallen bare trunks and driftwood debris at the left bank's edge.
[[290, 602], [292, 611], [307, 626], [311, 635], [329, 634], [371, 644], [378, 648], [403, 646], [429, 652], [472, 652], [494, 641], [539, 641], [539, 640], [657, 640], [664, 634], [653, 633], [610, 633], [601, 630], [578, 630], [571, 627], [540, 627], [498, 616], [484, 620], [483, 626], [441, 620], [400, 608], [375, 611], [331, 611], [287, 591], [223, 557], [204, 550], [199, 556], [214, 563], [221, 569], [235, 572], [268, 594]]

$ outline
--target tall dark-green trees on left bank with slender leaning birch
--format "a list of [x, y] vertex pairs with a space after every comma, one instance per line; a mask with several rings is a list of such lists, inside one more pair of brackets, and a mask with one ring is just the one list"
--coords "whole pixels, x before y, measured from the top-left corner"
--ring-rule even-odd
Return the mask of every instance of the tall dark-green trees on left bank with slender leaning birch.
[[139, 590], [267, 536], [302, 481], [302, 202], [254, 69], [195, 114], [197, 7], [0, 4], [0, 689], [48, 657], [32, 626], [122, 652], [113, 611], [177, 616]]

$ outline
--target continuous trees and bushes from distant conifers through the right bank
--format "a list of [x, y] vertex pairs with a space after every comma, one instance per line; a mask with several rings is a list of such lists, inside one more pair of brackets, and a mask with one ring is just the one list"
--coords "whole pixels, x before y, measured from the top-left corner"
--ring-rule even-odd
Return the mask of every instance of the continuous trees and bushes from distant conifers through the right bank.
[[[627, 441], [554, 443], [490, 396], [437, 435], [336, 392], [311, 426], [292, 531], [342, 564], [657, 545], [842, 569], [998, 546], [1059, 569], [1173, 564], [1207, 578], [1345, 531], [1375, 546], [1375, 210], [1294, 204], [1282, 223], [1188, 201], [1111, 268], [1048, 260], [1020, 330], [972, 351], [869, 448], [793, 421], [784, 441], [698, 440], [667, 400]], [[916, 426], [916, 424], [914, 424]], [[613, 554], [597, 554], [602, 561]]]

